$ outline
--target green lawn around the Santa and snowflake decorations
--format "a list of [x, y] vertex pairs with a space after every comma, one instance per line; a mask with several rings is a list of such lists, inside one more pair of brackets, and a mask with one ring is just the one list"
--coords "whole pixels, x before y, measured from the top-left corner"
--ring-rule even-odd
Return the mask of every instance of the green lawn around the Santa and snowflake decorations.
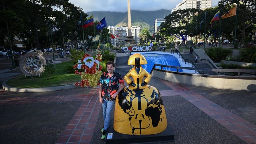
[[[56, 64], [57, 72], [51, 75], [49, 80], [49, 75], [43, 73], [40, 77], [30, 77], [25, 78], [24, 75], [18, 76], [14, 79], [11, 79], [6, 82], [7, 85], [13, 87], [22, 87], [22, 88], [37, 88], [37, 87], [51, 87], [51, 86], [61, 86], [61, 85], [70, 85], [75, 84], [75, 82], [81, 81], [81, 76], [74, 74], [66, 73], [68, 68], [72, 68], [73, 62], [70, 60], [68, 62]], [[74, 69], [75, 71], [75, 69]]]

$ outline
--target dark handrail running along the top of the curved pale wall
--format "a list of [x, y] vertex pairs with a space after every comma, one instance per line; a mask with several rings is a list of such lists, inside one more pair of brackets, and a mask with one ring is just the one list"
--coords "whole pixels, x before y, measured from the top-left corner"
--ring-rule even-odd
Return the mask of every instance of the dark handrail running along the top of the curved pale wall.
[[204, 71], [233, 72], [233, 73], [238, 73], [238, 76], [240, 76], [240, 73], [256, 73], [255, 69], [209, 69], [209, 68], [190, 68], [190, 67], [182, 67], [182, 66], [154, 64], [153, 68], [150, 71], [150, 74], [152, 73], [153, 69], [156, 69], [155, 66], [161, 66], [161, 70], [162, 70], [162, 67], [176, 68], [177, 73], [178, 73], [178, 69], [198, 70], [198, 71], [203, 71], [203, 75], [204, 75]]

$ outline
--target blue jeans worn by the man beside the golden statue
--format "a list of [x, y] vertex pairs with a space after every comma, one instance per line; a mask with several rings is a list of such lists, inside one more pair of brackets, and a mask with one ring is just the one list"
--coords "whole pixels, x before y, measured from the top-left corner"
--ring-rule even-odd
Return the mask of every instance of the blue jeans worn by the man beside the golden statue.
[[102, 109], [103, 109], [103, 119], [104, 119], [104, 129], [107, 130], [110, 125], [111, 112], [113, 109], [115, 101], [107, 101], [103, 98]]

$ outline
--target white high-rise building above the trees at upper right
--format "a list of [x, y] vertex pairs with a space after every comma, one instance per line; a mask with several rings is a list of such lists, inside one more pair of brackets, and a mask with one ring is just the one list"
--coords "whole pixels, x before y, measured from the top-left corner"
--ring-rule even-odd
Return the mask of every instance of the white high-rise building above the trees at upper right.
[[181, 3], [177, 4], [172, 12], [182, 9], [207, 9], [212, 7], [212, 0], [182, 0]]

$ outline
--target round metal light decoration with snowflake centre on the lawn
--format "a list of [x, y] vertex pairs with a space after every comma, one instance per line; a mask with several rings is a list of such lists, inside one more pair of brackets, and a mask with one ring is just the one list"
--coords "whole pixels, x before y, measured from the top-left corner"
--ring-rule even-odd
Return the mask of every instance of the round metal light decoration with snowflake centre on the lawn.
[[23, 55], [20, 61], [20, 69], [27, 76], [37, 76], [44, 72], [43, 65], [46, 64], [46, 59], [43, 57], [43, 52], [29, 52]]

